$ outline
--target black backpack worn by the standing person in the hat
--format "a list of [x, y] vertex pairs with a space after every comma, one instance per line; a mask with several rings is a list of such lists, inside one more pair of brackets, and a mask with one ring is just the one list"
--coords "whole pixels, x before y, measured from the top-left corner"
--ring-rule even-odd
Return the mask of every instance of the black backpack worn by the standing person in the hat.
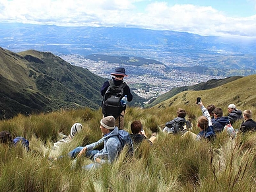
[[102, 101], [102, 113], [104, 117], [113, 115], [116, 119], [124, 109], [124, 107], [121, 106], [120, 101], [123, 98], [123, 88], [125, 88], [127, 84], [122, 82], [119, 86], [116, 86], [112, 79], [108, 82], [110, 83], [110, 86], [104, 94]]

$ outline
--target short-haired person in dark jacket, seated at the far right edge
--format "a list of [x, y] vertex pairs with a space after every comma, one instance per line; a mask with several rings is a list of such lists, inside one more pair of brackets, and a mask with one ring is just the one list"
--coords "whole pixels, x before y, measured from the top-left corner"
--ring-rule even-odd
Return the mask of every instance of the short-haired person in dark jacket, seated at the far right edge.
[[240, 131], [245, 133], [247, 131], [255, 131], [256, 130], [256, 122], [251, 119], [252, 117], [251, 110], [243, 111], [243, 123], [241, 123]]

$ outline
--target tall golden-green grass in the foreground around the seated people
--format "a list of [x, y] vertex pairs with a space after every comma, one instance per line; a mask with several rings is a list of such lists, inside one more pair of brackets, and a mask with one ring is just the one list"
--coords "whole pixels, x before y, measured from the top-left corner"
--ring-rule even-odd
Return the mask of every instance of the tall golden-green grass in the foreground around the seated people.
[[[187, 118], [198, 133], [196, 119], [199, 108], [187, 108]], [[162, 129], [166, 121], [176, 117], [177, 108], [127, 108], [125, 129], [132, 121], [140, 120], [148, 136], [154, 129]], [[255, 108], [253, 108], [255, 111]], [[71, 110], [42, 113], [29, 117], [17, 115], [0, 121], [0, 130], [30, 141], [29, 152], [22, 146], [0, 145], [0, 191], [255, 191], [256, 190], [256, 134], [248, 133], [230, 139], [226, 133], [213, 142], [195, 142], [191, 137], [158, 133], [152, 146], [141, 144], [132, 158], [122, 152], [114, 164], [104, 164], [98, 170], [84, 171], [90, 164], [81, 158], [77, 165], [65, 154], [102, 137], [100, 110]], [[255, 118], [255, 116], [253, 116]], [[64, 158], [48, 160], [51, 146], [58, 133], [69, 134], [73, 123], [84, 129], [69, 144], [64, 144]], [[238, 122], [234, 125], [239, 128]]]

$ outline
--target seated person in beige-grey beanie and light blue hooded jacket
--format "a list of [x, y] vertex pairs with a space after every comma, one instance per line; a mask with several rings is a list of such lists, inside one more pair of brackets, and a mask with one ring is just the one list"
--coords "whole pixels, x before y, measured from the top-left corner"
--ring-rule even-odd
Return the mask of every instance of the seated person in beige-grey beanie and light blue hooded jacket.
[[[71, 158], [86, 156], [94, 160], [94, 164], [83, 166], [84, 169], [98, 167], [102, 163], [112, 163], [121, 151], [121, 142], [119, 141], [118, 128], [115, 127], [115, 118], [107, 116], [100, 120], [100, 130], [102, 131], [102, 139], [86, 146], [78, 146], [69, 152]], [[102, 150], [96, 149], [104, 144]]]

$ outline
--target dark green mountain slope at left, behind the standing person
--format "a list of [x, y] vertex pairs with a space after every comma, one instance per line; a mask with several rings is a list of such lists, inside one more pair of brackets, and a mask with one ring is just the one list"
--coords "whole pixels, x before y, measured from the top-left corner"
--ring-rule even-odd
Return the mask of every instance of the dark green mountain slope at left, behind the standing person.
[[[0, 48], [0, 119], [18, 113], [100, 108], [105, 79], [49, 52]], [[131, 104], [143, 103], [139, 96]]]

